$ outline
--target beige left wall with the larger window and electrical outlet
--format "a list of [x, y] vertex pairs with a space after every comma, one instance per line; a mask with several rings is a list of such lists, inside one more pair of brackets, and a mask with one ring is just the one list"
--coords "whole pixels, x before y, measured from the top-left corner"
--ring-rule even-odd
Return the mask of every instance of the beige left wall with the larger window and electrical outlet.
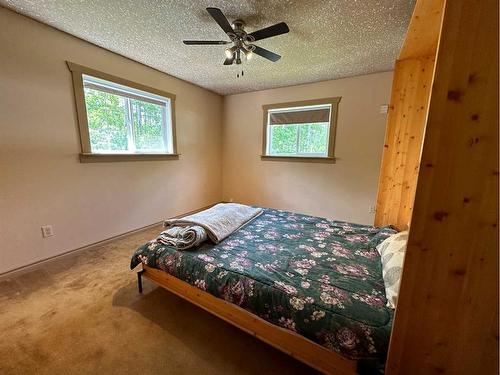
[[[0, 25], [0, 273], [220, 201], [219, 95], [4, 8]], [[65, 60], [176, 94], [180, 159], [79, 163]]]

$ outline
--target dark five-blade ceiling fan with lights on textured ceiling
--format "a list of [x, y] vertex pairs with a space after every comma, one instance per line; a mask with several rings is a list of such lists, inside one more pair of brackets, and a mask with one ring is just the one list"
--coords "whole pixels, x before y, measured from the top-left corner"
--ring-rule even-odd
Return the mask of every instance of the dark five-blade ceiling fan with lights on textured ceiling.
[[253, 44], [254, 42], [276, 35], [286, 34], [290, 31], [288, 25], [284, 22], [277, 23], [276, 25], [266, 27], [261, 30], [247, 33], [245, 22], [242, 20], [235, 20], [232, 24], [229, 23], [226, 16], [218, 8], [207, 8], [208, 13], [224, 30], [231, 41], [225, 40], [184, 40], [186, 45], [214, 45], [214, 44], [232, 44], [231, 47], [226, 48], [226, 59], [224, 65], [241, 64], [242, 56], [251, 59], [253, 54], [262, 56], [272, 62], [278, 61], [281, 56], [271, 52], [265, 48], [261, 48]]

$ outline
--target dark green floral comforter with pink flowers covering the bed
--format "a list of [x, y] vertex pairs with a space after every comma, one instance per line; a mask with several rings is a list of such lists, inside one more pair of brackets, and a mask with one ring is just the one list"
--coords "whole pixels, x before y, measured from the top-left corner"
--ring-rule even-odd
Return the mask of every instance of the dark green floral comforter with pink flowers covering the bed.
[[394, 230], [265, 209], [221, 243], [176, 251], [155, 240], [133, 255], [350, 359], [383, 358], [386, 307], [375, 247]]

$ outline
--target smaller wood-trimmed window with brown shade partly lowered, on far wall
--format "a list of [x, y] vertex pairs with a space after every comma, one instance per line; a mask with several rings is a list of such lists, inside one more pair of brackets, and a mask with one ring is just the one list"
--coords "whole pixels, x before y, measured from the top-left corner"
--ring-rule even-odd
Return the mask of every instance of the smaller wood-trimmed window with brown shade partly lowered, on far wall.
[[340, 98], [263, 106], [264, 159], [333, 161]]

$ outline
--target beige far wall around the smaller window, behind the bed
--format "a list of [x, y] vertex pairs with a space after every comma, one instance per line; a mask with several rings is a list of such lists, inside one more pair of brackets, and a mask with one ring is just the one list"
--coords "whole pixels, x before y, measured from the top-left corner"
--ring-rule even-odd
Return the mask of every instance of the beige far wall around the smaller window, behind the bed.
[[[372, 224], [391, 81], [387, 72], [224, 97], [224, 200]], [[335, 164], [260, 160], [263, 104], [335, 96]]]

